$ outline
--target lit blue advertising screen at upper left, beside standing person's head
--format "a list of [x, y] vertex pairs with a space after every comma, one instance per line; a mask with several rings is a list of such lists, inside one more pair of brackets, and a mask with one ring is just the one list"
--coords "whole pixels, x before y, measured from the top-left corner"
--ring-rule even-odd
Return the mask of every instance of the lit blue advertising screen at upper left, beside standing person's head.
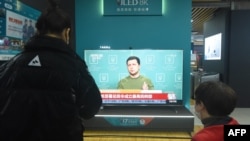
[[40, 13], [18, 0], [0, 0], [0, 60], [9, 60], [23, 49], [25, 20], [34, 33]]

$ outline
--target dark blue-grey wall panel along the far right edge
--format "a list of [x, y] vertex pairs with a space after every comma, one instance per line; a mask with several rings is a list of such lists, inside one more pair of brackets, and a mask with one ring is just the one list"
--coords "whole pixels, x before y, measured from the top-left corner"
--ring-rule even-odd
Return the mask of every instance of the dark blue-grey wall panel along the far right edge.
[[239, 94], [238, 107], [250, 107], [250, 10], [231, 12], [229, 85]]

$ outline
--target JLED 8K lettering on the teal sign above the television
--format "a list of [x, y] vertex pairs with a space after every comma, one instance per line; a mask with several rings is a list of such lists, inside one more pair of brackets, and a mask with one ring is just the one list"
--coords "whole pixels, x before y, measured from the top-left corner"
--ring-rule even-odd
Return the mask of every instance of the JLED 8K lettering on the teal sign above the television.
[[119, 6], [144, 6], [148, 5], [148, 0], [117, 0]]

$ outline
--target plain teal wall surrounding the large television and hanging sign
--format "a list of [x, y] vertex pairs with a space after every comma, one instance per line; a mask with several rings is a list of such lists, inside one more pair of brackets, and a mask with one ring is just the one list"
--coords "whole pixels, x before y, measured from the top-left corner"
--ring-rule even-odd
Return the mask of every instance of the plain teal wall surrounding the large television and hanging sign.
[[183, 98], [190, 101], [191, 0], [162, 0], [162, 15], [104, 16], [102, 0], [75, 0], [76, 51], [100, 49], [181, 49]]

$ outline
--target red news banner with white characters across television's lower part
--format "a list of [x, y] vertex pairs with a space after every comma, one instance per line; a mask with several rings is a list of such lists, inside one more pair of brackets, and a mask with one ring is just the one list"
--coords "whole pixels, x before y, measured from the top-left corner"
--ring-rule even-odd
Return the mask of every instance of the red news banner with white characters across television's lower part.
[[101, 90], [103, 103], [165, 104], [168, 93], [160, 90]]

